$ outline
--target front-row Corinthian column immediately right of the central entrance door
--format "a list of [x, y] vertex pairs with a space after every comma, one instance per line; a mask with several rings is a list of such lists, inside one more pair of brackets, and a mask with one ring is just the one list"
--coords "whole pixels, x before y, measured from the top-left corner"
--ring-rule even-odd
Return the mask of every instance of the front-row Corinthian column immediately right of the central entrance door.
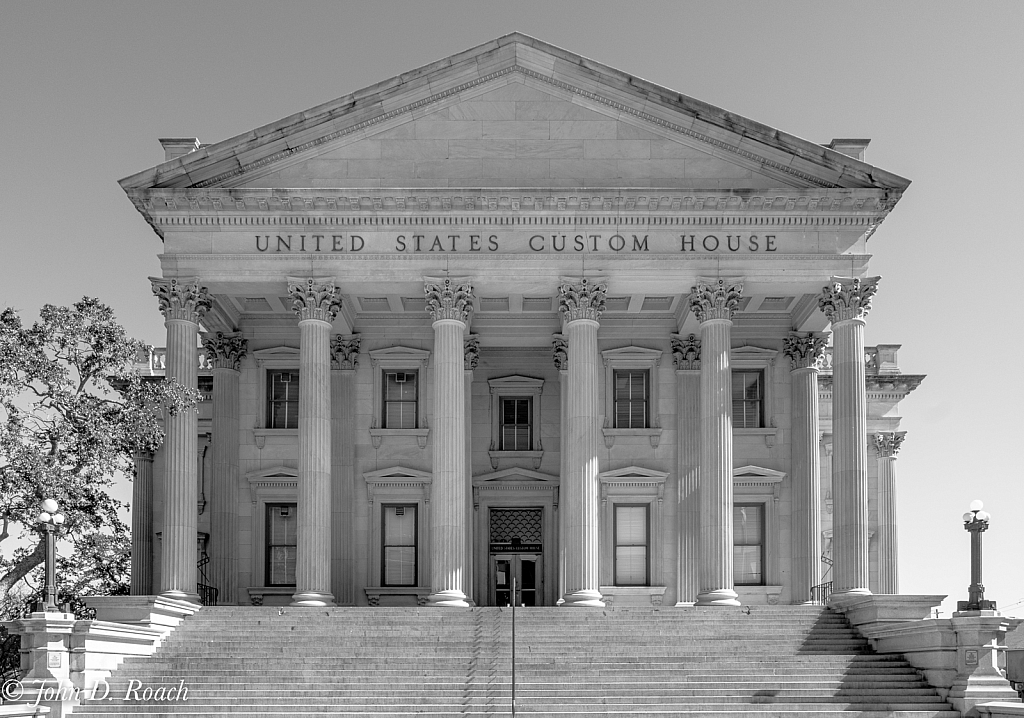
[[562, 475], [562, 526], [565, 541], [563, 606], [603, 606], [601, 600], [600, 481], [598, 447], [601, 416], [598, 400], [600, 354], [598, 320], [604, 312], [607, 288], [587, 278], [563, 280], [558, 310], [568, 351], [568, 427], [565, 473]]

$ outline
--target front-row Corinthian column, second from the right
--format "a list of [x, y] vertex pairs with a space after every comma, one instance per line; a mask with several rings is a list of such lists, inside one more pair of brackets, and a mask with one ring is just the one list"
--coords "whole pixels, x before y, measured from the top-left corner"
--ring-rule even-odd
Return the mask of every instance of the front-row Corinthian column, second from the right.
[[700, 590], [697, 605], [739, 605], [732, 582], [732, 313], [743, 286], [697, 282], [700, 323]]

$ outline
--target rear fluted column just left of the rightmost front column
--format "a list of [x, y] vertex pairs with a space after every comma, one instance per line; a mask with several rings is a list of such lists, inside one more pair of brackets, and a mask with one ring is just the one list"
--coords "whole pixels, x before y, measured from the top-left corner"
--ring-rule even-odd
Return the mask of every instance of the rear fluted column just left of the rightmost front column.
[[793, 363], [793, 601], [808, 603], [821, 583], [821, 455], [818, 451], [818, 362], [825, 335], [791, 332], [783, 351]]

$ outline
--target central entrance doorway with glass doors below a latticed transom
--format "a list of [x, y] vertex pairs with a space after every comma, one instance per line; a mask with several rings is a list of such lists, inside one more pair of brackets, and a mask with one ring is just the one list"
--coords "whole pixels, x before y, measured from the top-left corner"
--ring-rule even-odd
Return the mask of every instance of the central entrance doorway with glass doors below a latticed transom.
[[543, 605], [544, 510], [492, 508], [489, 513], [490, 605]]

